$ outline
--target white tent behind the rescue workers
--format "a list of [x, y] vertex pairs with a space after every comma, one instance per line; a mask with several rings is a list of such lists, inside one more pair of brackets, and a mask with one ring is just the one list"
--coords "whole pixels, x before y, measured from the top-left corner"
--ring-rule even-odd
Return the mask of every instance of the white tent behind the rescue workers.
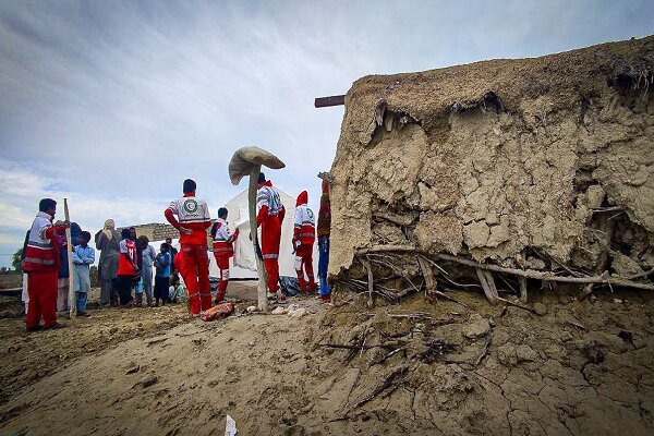
[[[293, 218], [295, 216], [295, 198], [289, 194], [280, 191], [279, 196], [281, 203], [286, 208], [286, 217], [281, 225], [281, 243], [279, 246], [279, 275], [295, 277], [295, 255], [293, 254], [293, 246], [291, 240], [293, 238]], [[234, 257], [233, 264], [230, 268], [231, 278], [256, 278], [256, 258], [254, 256], [254, 247], [252, 241], [250, 241], [250, 214], [247, 213], [247, 190], [241, 192], [239, 195], [233, 197], [230, 202], [225, 205], [228, 210], [227, 221], [229, 222], [229, 230], [233, 233], [237, 228], [241, 234], [234, 243]], [[316, 213], [317, 216], [317, 213]], [[259, 229], [259, 241], [261, 241], [261, 229]], [[314, 245], [314, 276], [318, 272], [318, 245], [317, 241]], [[216, 259], [211, 256], [211, 264], [209, 267], [209, 274], [215, 277], [220, 277], [220, 270], [216, 265]]]

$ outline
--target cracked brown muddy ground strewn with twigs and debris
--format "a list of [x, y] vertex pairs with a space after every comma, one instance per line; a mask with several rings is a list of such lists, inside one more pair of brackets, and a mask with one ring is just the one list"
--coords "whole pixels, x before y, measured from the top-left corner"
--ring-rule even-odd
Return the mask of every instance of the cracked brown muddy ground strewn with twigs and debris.
[[450, 294], [470, 308], [343, 294], [296, 299], [300, 318], [177, 305], [29, 336], [3, 319], [0, 433], [221, 435], [229, 414], [243, 435], [653, 434], [651, 295], [534, 292], [536, 315]]

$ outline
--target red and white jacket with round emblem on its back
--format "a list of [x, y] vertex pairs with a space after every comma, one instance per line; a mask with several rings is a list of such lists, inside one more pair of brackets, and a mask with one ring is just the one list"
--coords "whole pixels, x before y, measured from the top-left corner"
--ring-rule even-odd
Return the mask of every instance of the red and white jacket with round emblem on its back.
[[207, 244], [207, 229], [211, 226], [211, 217], [206, 202], [196, 198], [195, 192], [185, 193], [183, 197], [170, 202], [164, 215], [175, 229], [184, 227], [193, 231], [191, 234], [180, 234], [180, 244]]

